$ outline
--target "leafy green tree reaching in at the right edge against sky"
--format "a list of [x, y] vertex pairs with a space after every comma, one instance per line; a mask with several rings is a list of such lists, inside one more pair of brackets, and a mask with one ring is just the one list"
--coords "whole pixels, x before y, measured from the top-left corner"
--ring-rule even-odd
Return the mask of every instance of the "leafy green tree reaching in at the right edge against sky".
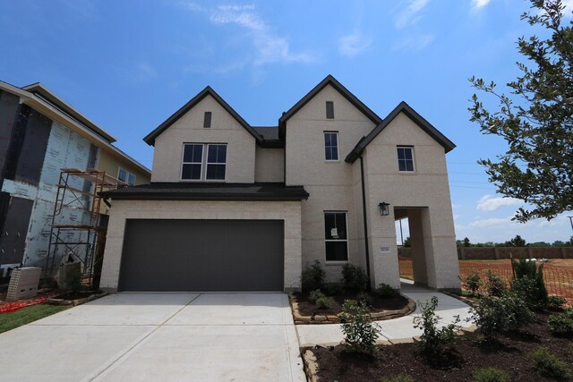
[[[561, 0], [530, 0], [532, 11], [522, 20], [541, 26], [548, 38], [519, 38], [518, 51], [527, 64], [522, 75], [507, 84], [509, 96], [494, 82], [472, 77], [475, 89], [493, 96], [499, 107], [488, 110], [474, 95], [470, 121], [485, 134], [508, 142], [497, 161], [481, 159], [490, 182], [501, 194], [523, 199], [533, 208], [518, 208], [514, 219], [548, 220], [573, 209], [573, 30], [563, 25]], [[548, 32], [548, 33], [547, 33]]]

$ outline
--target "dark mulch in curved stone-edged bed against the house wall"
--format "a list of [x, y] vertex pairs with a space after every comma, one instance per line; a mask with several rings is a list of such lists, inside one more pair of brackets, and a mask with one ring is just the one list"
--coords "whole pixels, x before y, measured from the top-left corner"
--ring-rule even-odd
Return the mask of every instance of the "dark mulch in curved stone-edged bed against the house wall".
[[[372, 298], [372, 309], [374, 312], [381, 312], [383, 310], [401, 310], [408, 304], [408, 300], [404, 296], [396, 298], [382, 298], [376, 293], [370, 293]], [[312, 316], [314, 314], [321, 315], [336, 315], [342, 312], [342, 303], [345, 300], [356, 300], [356, 293], [344, 293], [332, 296], [334, 303], [329, 309], [318, 309], [312, 301], [308, 300], [308, 293], [295, 293], [296, 300], [298, 301], [298, 311], [304, 316]]]

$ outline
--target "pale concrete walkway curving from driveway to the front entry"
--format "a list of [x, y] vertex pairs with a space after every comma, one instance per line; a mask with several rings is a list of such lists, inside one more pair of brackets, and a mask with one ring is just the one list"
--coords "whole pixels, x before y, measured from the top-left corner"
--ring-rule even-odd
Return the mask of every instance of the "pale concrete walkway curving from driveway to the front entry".
[[[402, 279], [402, 293], [406, 294], [414, 301], [429, 301], [432, 296], [438, 297], [439, 303], [436, 309], [436, 314], [441, 317], [440, 324], [442, 326], [448, 325], [454, 319], [454, 316], [459, 315], [461, 318], [460, 325], [462, 327], [471, 327], [472, 324], [466, 322], [469, 307], [462, 301], [449, 297], [444, 293], [438, 293], [415, 286], [413, 282]], [[398, 344], [406, 340], [411, 340], [416, 335], [421, 335], [420, 329], [414, 328], [414, 318], [419, 316], [420, 306], [416, 306], [415, 312], [409, 316], [402, 318], [389, 319], [385, 321], [378, 321], [381, 327], [381, 337], [379, 342], [389, 342]], [[325, 324], [325, 325], [297, 325], [298, 340], [301, 346], [312, 346], [314, 344], [339, 344], [343, 339], [342, 328], [339, 324]]]

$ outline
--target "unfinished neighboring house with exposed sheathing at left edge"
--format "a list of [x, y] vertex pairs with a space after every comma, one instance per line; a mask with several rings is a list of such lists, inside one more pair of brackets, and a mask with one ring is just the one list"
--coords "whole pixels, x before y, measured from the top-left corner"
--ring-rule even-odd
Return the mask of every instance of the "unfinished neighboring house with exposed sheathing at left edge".
[[[71, 251], [78, 252], [71, 244], [61, 245], [60, 251], [50, 245], [55, 240], [51, 225], [63, 168], [95, 169], [122, 183], [150, 182], [150, 170], [114, 142], [112, 135], [41, 83], [19, 88], [0, 81], [0, 280], [14, 267], [46, 267], [50, 252], [57, 257], [56, 265]], [[89, 205], [86, 191], [91, 183], [75, 179], [74, 184], [81, 192], [76, 195]], [[68, 192], [66, 201], [70, 198]], [[92, 211], [77, 207], [60, 208], [60, 221], [89, 221]], [[98, 212], [98, 225], [105, 226], [106, 206]], [[81, 242], [86, 235], [69, 230], [62, 242]]]

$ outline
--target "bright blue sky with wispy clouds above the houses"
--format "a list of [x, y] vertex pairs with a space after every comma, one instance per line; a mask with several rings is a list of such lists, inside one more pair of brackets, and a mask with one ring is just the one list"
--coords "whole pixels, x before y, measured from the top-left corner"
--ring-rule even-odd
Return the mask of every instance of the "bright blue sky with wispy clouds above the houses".
[[150, 167], [153, 150], [141, 139], [205, 86], [252, 125], [272, 125], [332, 74], [381, 117], [405, 100], [458, 145], [448, 166], [459, 239], [565, 241], [573, 213], [510, 221], [521, 202], [501, 199], [475, 164], [505, 143], [468, 121], [469, 77], [500, 84], [516, 77], [517, 38], [535, 32], [519, 20], [528, 7], [526, 0], [4, 1], [0, 80], [42, 82]]

